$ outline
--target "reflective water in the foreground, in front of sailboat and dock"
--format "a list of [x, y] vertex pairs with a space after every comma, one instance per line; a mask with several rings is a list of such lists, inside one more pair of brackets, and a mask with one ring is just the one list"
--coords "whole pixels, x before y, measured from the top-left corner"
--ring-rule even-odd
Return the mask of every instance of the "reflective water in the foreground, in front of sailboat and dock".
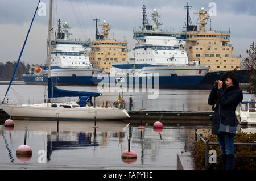
[[[3, 123], [1, 123], [3, 124]], [[27, 124], [27, 145], [32, 157], [26, 164], [39, 164], [45, 151], [46, 166], [81, 168], [103, 168], [130, 166], [160, 166], [176, 169], [176, 154], [189, 151], [195, 128], [164, 127], [160, 134], [152, 127], [138, 129], [121, 121], [18, 121], [8, 131], [0, 125], [0, 162], [20, 164], [16, 149], [24, 142]], [[199, 128], [199, 127], [196, 127]], [[209, 127], [202, 127], [209, 132]], [[130, 145], [129, 145], [130, 142]], [[124, 162], [121, 158], [126, 150], [133, 150], [137, 159]]]

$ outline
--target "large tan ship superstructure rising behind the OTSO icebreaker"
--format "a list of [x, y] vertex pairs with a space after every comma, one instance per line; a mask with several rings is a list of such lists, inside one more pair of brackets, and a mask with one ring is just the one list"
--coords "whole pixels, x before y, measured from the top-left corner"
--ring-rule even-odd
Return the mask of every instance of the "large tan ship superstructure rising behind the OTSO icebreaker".
[[[209, 15], [203, 8], [199, 15], [199, 32], [187, 31], [185, 50], [189, 61], [200, 61], [200, 66], [210, 67], [211, 71], [241, 70], [241, 56], [232, 56], [234, 48], [230, 41], [230, 32], [205, 31]], [[194, 29], [197, 29], [196, 26]]]

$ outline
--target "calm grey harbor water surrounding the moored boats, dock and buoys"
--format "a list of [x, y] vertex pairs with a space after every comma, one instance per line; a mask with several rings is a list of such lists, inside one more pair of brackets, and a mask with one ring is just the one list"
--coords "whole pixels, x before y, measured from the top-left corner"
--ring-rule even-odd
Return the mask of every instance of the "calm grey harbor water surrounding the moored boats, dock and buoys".
[[[4, 95], [8, 85], [0, 85]], [[23, 103], [42, 103], [46, 86], [12, 85], [9, 96]], [[60, 86], [61, 89], [97, 92], [97, 86]], [[158, 98], [148, 99], [147, 93], [123, 93], [126, 108], [133, 99], [133, 110], [143, 107], [148, 111], [192, 110], [208, 111], [210, 90], [159, 90]], [[104, 93], [96, 104], [116, 101], [119, 92]], [[122, 96], [122, 93], [121, 93]], [[244, 99], [250, 94], [244, 93]], [[67, 100], [72, 100], [71, 98]], [[76, 99], [74, 99], [76, 100]], [[63, 100], [66, 101], [66, 100]], [[158, 121], [158, 120], [156, 120]], [[144, 122], [143, 122], [144, 123]], [[177, 168], [177, 153], [189, 153], [195, 129], [203, 135], [210, 134], [210, 125], [163, 125], [162, 132], [154, 131], [144, 123], [144, 129], [122, 121], [30, 121], [14, 120], [14, 129], [8, 130], [0, 123], [0, 169], [171, 169]], [[24, 144], [32, 149], [27, 161], [16, 157], [16, 149]], [[241, 128], [242, 130], [242, 128]], [[244, 131], [244, 130], [243, 130]], [[254, 131], [254, 130], [253, 130]], [[129, 145], [130, 139], [130, 145]], [[130, 146], [130, 147], [129, 147]], [[137, 159], [122, 159], [127, 149], [135, 151]]]

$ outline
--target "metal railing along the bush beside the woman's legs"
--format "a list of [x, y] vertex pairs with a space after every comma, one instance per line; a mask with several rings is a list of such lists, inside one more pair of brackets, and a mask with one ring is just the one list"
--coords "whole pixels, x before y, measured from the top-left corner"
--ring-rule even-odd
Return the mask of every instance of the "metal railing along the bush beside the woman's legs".
[[[199, 134], [197, 132], [197, 129], [195, 129], [195, 142], [197, 142], [197, 136], [199, 136], [200, 140], [202, 140], [205, 143], [205, 170], [208, 170], [208, 159], [209, 159], [209, 145], [218, 145], [218, 142], [209, 142], [209, 140], [204, 140], [203, 135]], [[234, 145], [254, 145], [256, 146], [256, 143], [251, 143], [251, 142], [234, 142]], [[239, 157], [236, 156], [235, 157]], [[247, 156], [250, 157], [250, 156]], [[250, 158], [256, 158], [256, 157], [250, 157]]]

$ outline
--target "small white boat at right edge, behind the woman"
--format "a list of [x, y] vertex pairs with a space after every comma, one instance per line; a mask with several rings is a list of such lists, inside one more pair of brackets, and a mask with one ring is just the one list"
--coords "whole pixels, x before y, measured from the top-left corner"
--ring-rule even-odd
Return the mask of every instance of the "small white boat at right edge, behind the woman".
[[243, 101], [238, 105], [236, 116], [239, 124], [256, 125], [256, 101]]

